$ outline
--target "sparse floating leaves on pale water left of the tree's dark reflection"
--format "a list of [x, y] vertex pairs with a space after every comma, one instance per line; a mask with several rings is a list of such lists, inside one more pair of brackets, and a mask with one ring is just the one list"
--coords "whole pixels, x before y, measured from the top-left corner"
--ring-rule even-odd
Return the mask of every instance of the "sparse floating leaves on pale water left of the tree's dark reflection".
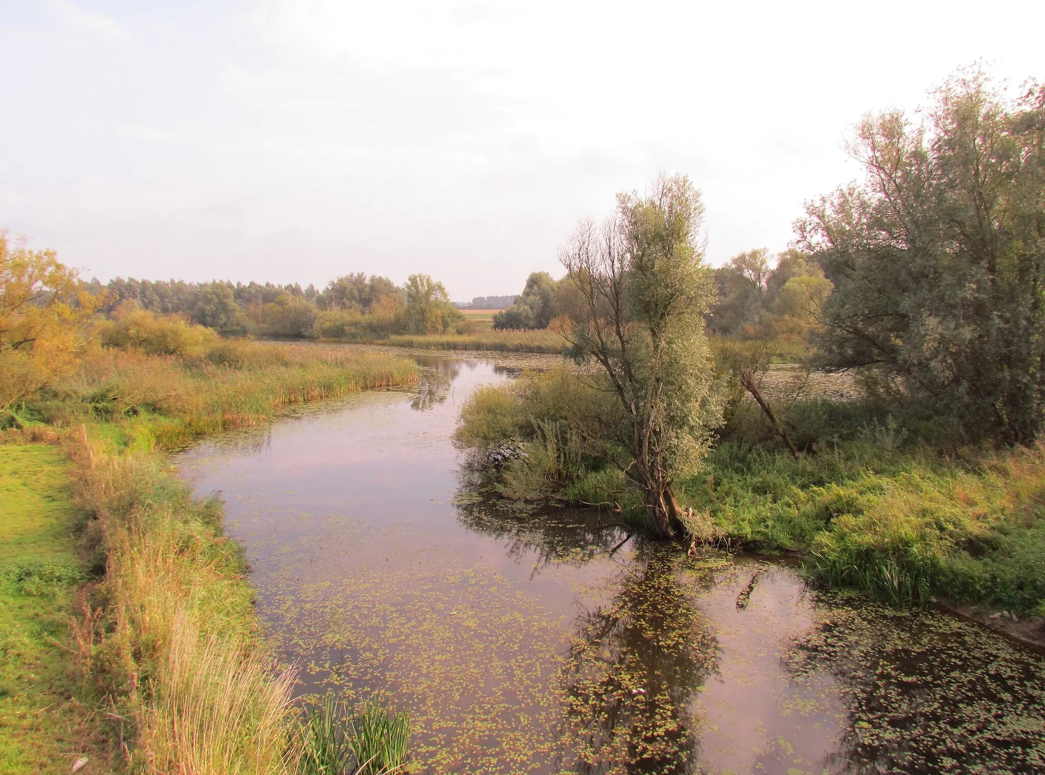
[[265, 590], [272, 642], [304, 660], [305, 689], [336, 686], [349, 701], [388, 690], [410, 707], [412, 756], [426, 772], [539, 770], [562, 623], [497, 573], [423, 554], [387, 570], [349, 562], [346, 584], [282, 573]]

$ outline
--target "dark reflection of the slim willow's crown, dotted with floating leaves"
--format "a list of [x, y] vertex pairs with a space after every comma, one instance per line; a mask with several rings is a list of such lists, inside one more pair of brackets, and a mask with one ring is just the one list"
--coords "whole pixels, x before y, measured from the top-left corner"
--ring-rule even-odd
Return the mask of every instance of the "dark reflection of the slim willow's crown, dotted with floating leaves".
[[562, 670], [563, 761], [579, 773], [692, 773], [698, 687], [716, 641], [680, 583], [688, 558], [650, 546], [606, 605], [583, 610]]

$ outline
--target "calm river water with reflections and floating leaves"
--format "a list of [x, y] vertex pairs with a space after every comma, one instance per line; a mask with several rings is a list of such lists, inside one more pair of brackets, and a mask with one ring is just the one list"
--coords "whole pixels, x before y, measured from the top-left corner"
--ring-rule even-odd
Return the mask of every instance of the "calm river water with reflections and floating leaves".
[[414, 771], [1045, 772], [1037, 654], [781, 561], [477, 494], [462, 401], [547, 356], [415, 357], [416, 386], [177, 457], [225, 499], [299, 694], [409, 709]]

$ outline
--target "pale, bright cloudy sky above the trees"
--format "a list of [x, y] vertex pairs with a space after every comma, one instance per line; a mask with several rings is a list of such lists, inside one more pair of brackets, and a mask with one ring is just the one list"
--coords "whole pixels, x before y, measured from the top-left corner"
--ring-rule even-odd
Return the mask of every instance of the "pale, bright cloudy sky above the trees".
[[872, 111], [982, 62], [1045, 79], [1045, 3], [0, 0], [0, 228], [85, 277], [455, 301], [562, 274], [613, 194], [688, 174], [707, 259], [784, 250]]

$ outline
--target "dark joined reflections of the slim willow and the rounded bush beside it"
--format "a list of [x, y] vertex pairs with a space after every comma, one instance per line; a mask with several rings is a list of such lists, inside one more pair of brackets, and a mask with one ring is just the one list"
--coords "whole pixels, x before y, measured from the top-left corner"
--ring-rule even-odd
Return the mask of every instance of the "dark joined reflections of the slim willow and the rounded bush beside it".
[[504, 539], [517, 561], [532, 558], [534, 574], [598, 557], [620, 562], [608, 602], [581, 608], [574, 623], [559, 679], [560, 767], [584, 775], [695, 772], [694, 708], [717, 649], [694, 603], [695, 561], [677, 546], [629, 541], [605, 512], [513, 508], [468, 490], [458, 503], [463, 524]]

